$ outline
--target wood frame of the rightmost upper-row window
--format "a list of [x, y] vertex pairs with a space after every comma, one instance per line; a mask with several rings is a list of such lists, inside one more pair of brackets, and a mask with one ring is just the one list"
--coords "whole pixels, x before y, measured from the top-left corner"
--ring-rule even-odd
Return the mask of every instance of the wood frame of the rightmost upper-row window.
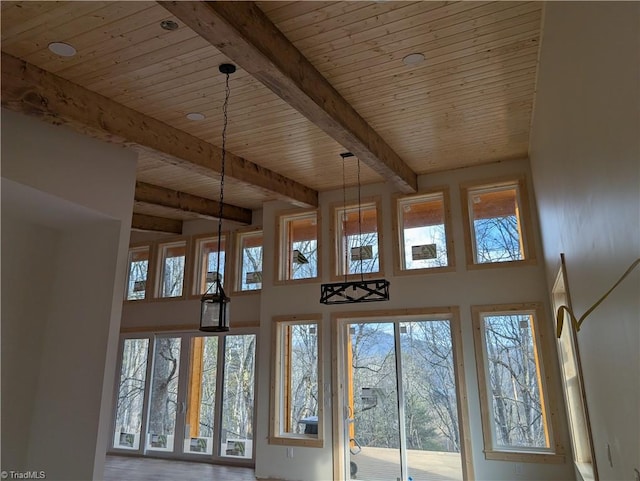
[[[485, 190], [500, 190], [515, 188], [517, 192], [517, 205], [519, 208], [520, 243], [522, 244], [523, 258], [512, 261], [476, 262], [476, 239], [475, 229], [471, 214], [473, 210], [469, 207], [474, 192]], [[531, 208], [527, 180], [524, 175], [507, 178], [474, 181], [460, 185], [460, 202], [462, 206], [462, 217], [464, 219], [464, 240], [467, 256], [468, 269], [487, 269], [495, 267], [522, 266], [536, 263], [536, 249], [533, 234], [533, 222], [531, 218]]]

